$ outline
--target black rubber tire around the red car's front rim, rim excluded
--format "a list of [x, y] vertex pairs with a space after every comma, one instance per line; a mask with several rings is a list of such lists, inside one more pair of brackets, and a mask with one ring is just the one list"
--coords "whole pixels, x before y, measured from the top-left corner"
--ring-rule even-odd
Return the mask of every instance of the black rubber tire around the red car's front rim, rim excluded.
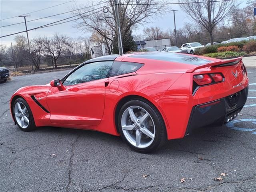
[[[16, 118], [15, 118], [15, 114], [14, 114], [14, 106], [17, 102], [22, 102], [22, 104], [24, 104], [24, 106], [26, 106], [27, 110], [28, 110], [28, 115], [29, 115], [29, 123], [28, 123], [28, 127], [27, 128], [22, 128], [18, 122], [16, 121]], [[14, 121], [15, 123], [18, 125], [18, 127], [22, 130], [22, 131], [32, 131], [34, 129], [36, 129], [36, 124], [35, 124], [35, 121], [34, 121], [34, 117], [32, 115], [32, 112], [31, 112], [31, 109], [30, 107], [28, 106], [28, 103], [23, 99], [23, 98], [17, 98], [15, 101], [14, 101], [14, 104], [12, 106], [12, 115], [14, 117]]]

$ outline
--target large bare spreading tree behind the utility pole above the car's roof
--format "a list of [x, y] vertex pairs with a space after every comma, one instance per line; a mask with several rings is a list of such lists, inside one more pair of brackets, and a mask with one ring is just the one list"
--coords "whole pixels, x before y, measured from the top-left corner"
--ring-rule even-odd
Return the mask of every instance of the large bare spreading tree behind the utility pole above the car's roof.
[[[133, 0], [122, 0], [119, 4], [120, 29], [122, 34], [126, 34], [130, 29], [136, 28], [139, 24], [150, 22], [150, 18], [162, 14], [166, 5], [158, 5], [158, 0], [144, 0], [136, 4]], [[103, 2], [104, 3], [104, 2]], [[103, 4], [101, 3], [101, 5]], [[80, 30], [93, 32], [96, 36], [101, 36], [100, 40], [106, 46], [108, 54], [112, 53], [112, 42], [117, 35], [116, 20], [114, 16], [114, 2], [106, 0], [104, 6], [108, 7], [108, 12], [103, 13], [99, 5], [86, 6], [81, 9], [81, 5], [73, 8], [74, 14], [80, 16], [77, 20], [76, 27]], [[98, 8], [96, 10], [96, 8]], [[86, 12], [90, 15], [86, 15]], [[123, 35], [122, 35], [123, 36]]]

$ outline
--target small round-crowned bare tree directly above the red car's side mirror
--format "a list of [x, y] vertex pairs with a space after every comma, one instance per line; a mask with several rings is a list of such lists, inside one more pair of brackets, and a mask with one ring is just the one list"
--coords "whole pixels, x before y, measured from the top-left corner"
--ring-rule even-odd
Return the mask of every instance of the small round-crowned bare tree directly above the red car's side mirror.
[[68, 37], [66, 35], [55, 34], [52, 38], [37, 38], [36, 42], [42, 45], [42, 53], [50, 55], [54, 61], [54, 67], [57, 68], [57, 60], [60, 54], [66, 52]]

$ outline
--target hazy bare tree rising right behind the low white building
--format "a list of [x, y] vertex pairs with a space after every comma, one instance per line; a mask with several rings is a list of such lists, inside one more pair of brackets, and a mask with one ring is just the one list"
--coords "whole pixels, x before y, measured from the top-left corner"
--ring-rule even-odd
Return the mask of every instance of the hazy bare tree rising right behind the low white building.
[[155, 40], [155, 39], [163, 39], [163, 38], [170, 38], [170, 35], [167, 31], [163, 31], [159, 27], [150, 27], [145, 28], [143, 30], [146, 40]]

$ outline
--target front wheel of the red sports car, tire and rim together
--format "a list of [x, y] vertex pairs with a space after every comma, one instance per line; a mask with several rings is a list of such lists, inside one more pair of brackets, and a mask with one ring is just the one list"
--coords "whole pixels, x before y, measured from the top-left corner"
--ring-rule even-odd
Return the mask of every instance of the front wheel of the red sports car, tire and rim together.
[[17, 98], [14, 101], [12, 113], [16, 124], [22, 131], [32, 131], [36, 128], [30, 107], [23, 98]]

